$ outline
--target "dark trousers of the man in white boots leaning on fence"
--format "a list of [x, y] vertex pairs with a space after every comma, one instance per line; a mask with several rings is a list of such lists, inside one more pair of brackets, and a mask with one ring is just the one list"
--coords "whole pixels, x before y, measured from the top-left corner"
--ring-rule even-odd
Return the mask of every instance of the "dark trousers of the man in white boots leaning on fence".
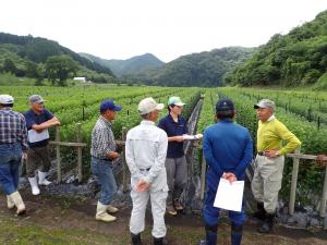
[[51, 159], [49, 156], [48, 146], [29, 148], [27, 150], [26, 175], [34, 177], [35, 170], [41, 166], [41, 172], [49, 172]]

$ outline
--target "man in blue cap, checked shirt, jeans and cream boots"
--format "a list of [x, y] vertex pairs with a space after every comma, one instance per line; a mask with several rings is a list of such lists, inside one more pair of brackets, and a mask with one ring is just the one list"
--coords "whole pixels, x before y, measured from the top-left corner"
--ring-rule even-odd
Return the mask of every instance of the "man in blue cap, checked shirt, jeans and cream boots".
[[100, 117], [92, 131], [90, 170], [101, 186], [101, 196], [97, 204], [95, 218], [104, 222], [117, 220], [116, 217], [107, 213], [107, 211], [111, 213], [118, 212], [118, 208], [110, 205], [117, 192], [112, 162], [120, 156], [117, 152], [111, 126], [117, 111], [121, 110], [122, 108], [117, 106], [111, 99], [104, 100], [100, 105]]

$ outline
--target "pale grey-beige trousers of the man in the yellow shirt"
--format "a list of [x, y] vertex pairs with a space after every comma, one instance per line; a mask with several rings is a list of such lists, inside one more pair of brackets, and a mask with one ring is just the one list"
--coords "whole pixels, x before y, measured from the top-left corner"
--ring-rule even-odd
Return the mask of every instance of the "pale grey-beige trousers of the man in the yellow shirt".
[[283, 156], [277, 158], [256, 156], [255, 158], [255, 170], [251, 183], [252, 193], [257, 201], [264, 203], [268, 213], [276, 211], [283, 164]]

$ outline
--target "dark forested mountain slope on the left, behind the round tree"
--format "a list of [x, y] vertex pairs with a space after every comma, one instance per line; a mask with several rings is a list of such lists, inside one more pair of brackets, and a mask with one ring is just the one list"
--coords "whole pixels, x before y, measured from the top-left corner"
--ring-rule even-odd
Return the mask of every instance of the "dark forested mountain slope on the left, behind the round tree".
[[[72, 50], [46, 38], [16, 36], [0, 33], [0, 72], [11, 72], [16, 76], [39, 78], [47, 76], [46, 62], [51, 57], [74, 63], [74, 73], [87, 76], [94, 82], [113, 81], [114, 75], [109, 68], [93, 62]], [[33, 70], [33, 71], [31, 71]], [[39, 73], [39, 74], [37, 74]]]

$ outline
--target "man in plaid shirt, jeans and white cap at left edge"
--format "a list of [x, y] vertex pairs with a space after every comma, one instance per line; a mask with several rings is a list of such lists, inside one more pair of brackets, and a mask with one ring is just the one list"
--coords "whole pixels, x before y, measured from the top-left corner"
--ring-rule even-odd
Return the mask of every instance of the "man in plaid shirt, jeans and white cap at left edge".
[[12, 110], [14, 98], [0, 95], [0, 184], [7, 195], [9, 209], [16, 213], [26, 211], [19, 193], [20, 167], [27, 157], [27, 130], [25, 118]]

